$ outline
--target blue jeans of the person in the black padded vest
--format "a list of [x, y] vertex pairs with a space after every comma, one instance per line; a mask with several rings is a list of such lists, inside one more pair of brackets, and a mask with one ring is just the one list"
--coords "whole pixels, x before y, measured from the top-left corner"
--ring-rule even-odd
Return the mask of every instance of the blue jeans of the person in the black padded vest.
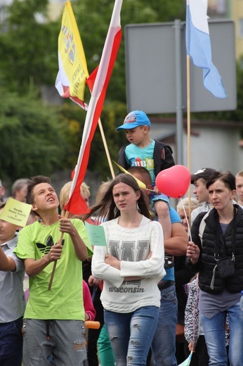
[[202, 327], [206, 339], [206, 346], [209, 353], [209, 365], [227, 366], [227, 351], [225, 347], [225, 320], [226, 313], [229, 316], [230, 344], [229, 359], [230, 366], [243, 365], [243, 312], [239, 303], [228, 308], [227, 312], [221, 312], [211, 319], [201, 315]]

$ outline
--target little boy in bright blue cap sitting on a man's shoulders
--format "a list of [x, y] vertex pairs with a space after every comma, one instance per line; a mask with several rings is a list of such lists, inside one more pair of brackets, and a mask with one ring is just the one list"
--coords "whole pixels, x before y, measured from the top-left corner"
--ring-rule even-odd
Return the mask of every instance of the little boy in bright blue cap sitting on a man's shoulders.
[[[150, 172], [152, 187], [155, 178], [164, 169], [175, 165], [171, 147], [150, 138], [150, 120], [143, 111], [132, 111], [124, 119], [124, 124], [117, 131], [125, 130], [130, 144], [122, 146], [118, 153], [118, 163], [126, 170], [129, 167], [141, 166]], [[159, 193], [155, 188], [155, 193]], [[156, 197], [156, 196], [155, 196]], [[164, 196], [155, 202], [159, 222], [163, 227], [164, 239], [171, 236], [169, 217], [169, 199]]]

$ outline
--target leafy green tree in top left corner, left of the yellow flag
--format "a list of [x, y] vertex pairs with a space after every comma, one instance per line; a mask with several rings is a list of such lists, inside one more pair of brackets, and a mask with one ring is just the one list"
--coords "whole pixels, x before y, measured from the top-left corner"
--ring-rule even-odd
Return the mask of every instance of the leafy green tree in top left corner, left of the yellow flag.
[[60, 25], [38, 23], [48, 0], [13, 1], [0, 33], [0, 82], [7, 89], [27, 92], [29, 84], [54, 84]]

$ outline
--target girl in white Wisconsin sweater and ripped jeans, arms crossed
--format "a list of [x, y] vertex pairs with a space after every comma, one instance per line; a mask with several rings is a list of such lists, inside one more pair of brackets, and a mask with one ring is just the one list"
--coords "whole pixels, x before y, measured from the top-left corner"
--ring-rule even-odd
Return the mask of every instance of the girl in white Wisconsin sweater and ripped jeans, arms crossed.
[[165, 275], [162, 226], [150, 220], [149, 203], [136, 179], [118, 175], [89, 215], [106, 217], [106, 246], [93, 252], [94, 283], [103, 279], [101, 301], [117, 366], [146, 365], [157, 327]]

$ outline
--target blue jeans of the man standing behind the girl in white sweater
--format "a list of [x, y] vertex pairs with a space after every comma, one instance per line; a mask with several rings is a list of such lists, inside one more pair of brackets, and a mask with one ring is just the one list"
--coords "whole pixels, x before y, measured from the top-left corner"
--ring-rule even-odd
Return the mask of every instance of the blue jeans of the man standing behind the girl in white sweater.
[[152, 355], [155, 366], [176, 366], [176, 286], [162, 289], [159, 321], [152, 341]]

